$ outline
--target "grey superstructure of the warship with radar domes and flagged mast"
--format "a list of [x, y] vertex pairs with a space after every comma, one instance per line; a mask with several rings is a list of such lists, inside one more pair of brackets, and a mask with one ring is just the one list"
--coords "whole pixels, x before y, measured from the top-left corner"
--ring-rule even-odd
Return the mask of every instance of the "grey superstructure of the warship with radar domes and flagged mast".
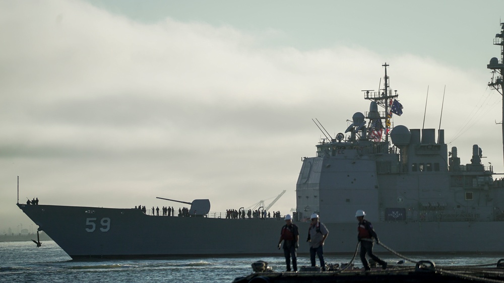
[[389, 88], [388, 64], [383, 66], [384, 88], [364, 91], [370, 111], [355, 113], [349, 134], [323, 139], [316, 157], [303, 158], [297, 218], [316, 211], [326, 221], [347, 222], [363, 209], [371, 222], [502, 220], [504, 189], [494, 182], [492, 168], [481, 163], [477, 145], [471, 162], [461, 165], [457, 148], [448, 150], [443, 129], [391, 127], [394, 105], [396, 112], [402, 105]]

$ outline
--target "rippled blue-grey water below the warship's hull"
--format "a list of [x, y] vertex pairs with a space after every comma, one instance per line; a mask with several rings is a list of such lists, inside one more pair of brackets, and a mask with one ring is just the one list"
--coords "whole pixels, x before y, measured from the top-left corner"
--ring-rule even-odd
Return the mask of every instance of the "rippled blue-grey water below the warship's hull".
[[[394, 264], [401, 258], [379, 255]], [[326, 255], [328, 263], [349, 262], [351, 255]], [[504, 257], [478, 256], [406, 256], [430, 260], [436, 266], [496, 264]], [[36, 248], [32, 242], [0, 242], [0, 282], [232, 282], [252, 273], [250, 264], [264, 260], [275, 271], [285, 270], [283, 254], [277, 257], [167, 258], [138, 260], [72, 260], [53, 241]], [[319, 260], [317, 259], [317, 264]], [[358, 258], [356, 267], [362, 267]], [[405, 263], [414, 265], [413, 263]], [[310, 265], [309, 258], [298, 255], [298, 266]]]

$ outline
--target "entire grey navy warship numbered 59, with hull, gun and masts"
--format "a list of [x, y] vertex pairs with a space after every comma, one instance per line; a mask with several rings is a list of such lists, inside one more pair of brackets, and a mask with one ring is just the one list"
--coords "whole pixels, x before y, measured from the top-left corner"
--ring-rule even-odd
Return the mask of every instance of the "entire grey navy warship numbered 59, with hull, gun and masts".
[[[504, 56], [501, 26], [494, 44]], [[368, 112], [356, 112], [334, 138], [316, 122], [326, 137], [316, 156], [302, 158], [293, 212], [301, 234], [298, 252], [308, 252], [306, 219], [316, 213], [329, 230], [324, 252], [353, 253], [358, 209], [366, 211], [381, 242], [398, 252], [504, 252], [504, 185], [482, 164], [482, 149], [463, 149], [472, 150], [464, 164], [458, 149], [445, 143], [444, 129], [393, 126], [402, 105], [389, 86], [389, 65], [383, 66], [383, 89], [363, 92]], [[502, 57], [487, 67], [494, 74], [489, 86], [502, 94]], [[276, 244], [282, 220], [213, 218], [208, 199], [187, 203], [188, 217], [134, 208], [17, 205], [74, 259], [281, 254]]]

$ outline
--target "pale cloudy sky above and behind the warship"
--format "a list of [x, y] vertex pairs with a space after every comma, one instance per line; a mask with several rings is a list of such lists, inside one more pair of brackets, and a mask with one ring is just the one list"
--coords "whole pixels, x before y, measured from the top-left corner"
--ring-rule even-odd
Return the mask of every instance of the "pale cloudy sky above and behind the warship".
[[[484, 4], [482, 4], [484, 3]], [[17, 201], [103, 207], [209, 198], [295, 207], [301, 157], [369, 109], [382, 64], [404, 114], [504, 172], [486, 64], [504, 2], [2, 1], [0, 233]], [[382, 79], [383, 83], [383, 79]], [[427, 111], [424, 109], [428, 89]], [[35, 227], [33, 227], [33, 231]]]

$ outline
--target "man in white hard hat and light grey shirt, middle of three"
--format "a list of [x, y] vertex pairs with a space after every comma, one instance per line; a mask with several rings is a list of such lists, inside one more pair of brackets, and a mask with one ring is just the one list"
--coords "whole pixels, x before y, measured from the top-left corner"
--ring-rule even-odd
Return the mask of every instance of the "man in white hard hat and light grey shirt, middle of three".
[[310, 227], [308, 228], [308, 239], [310, 245], [310, 261], [311, 266], [315, 266], [315, 254], [319, 256], [321, 269], [326, 270], [326, 263], [324, 262], [324, 241], [326, 241], [329, 231], [326, 226], [319, 221], [317, 214], [311, 215]]

